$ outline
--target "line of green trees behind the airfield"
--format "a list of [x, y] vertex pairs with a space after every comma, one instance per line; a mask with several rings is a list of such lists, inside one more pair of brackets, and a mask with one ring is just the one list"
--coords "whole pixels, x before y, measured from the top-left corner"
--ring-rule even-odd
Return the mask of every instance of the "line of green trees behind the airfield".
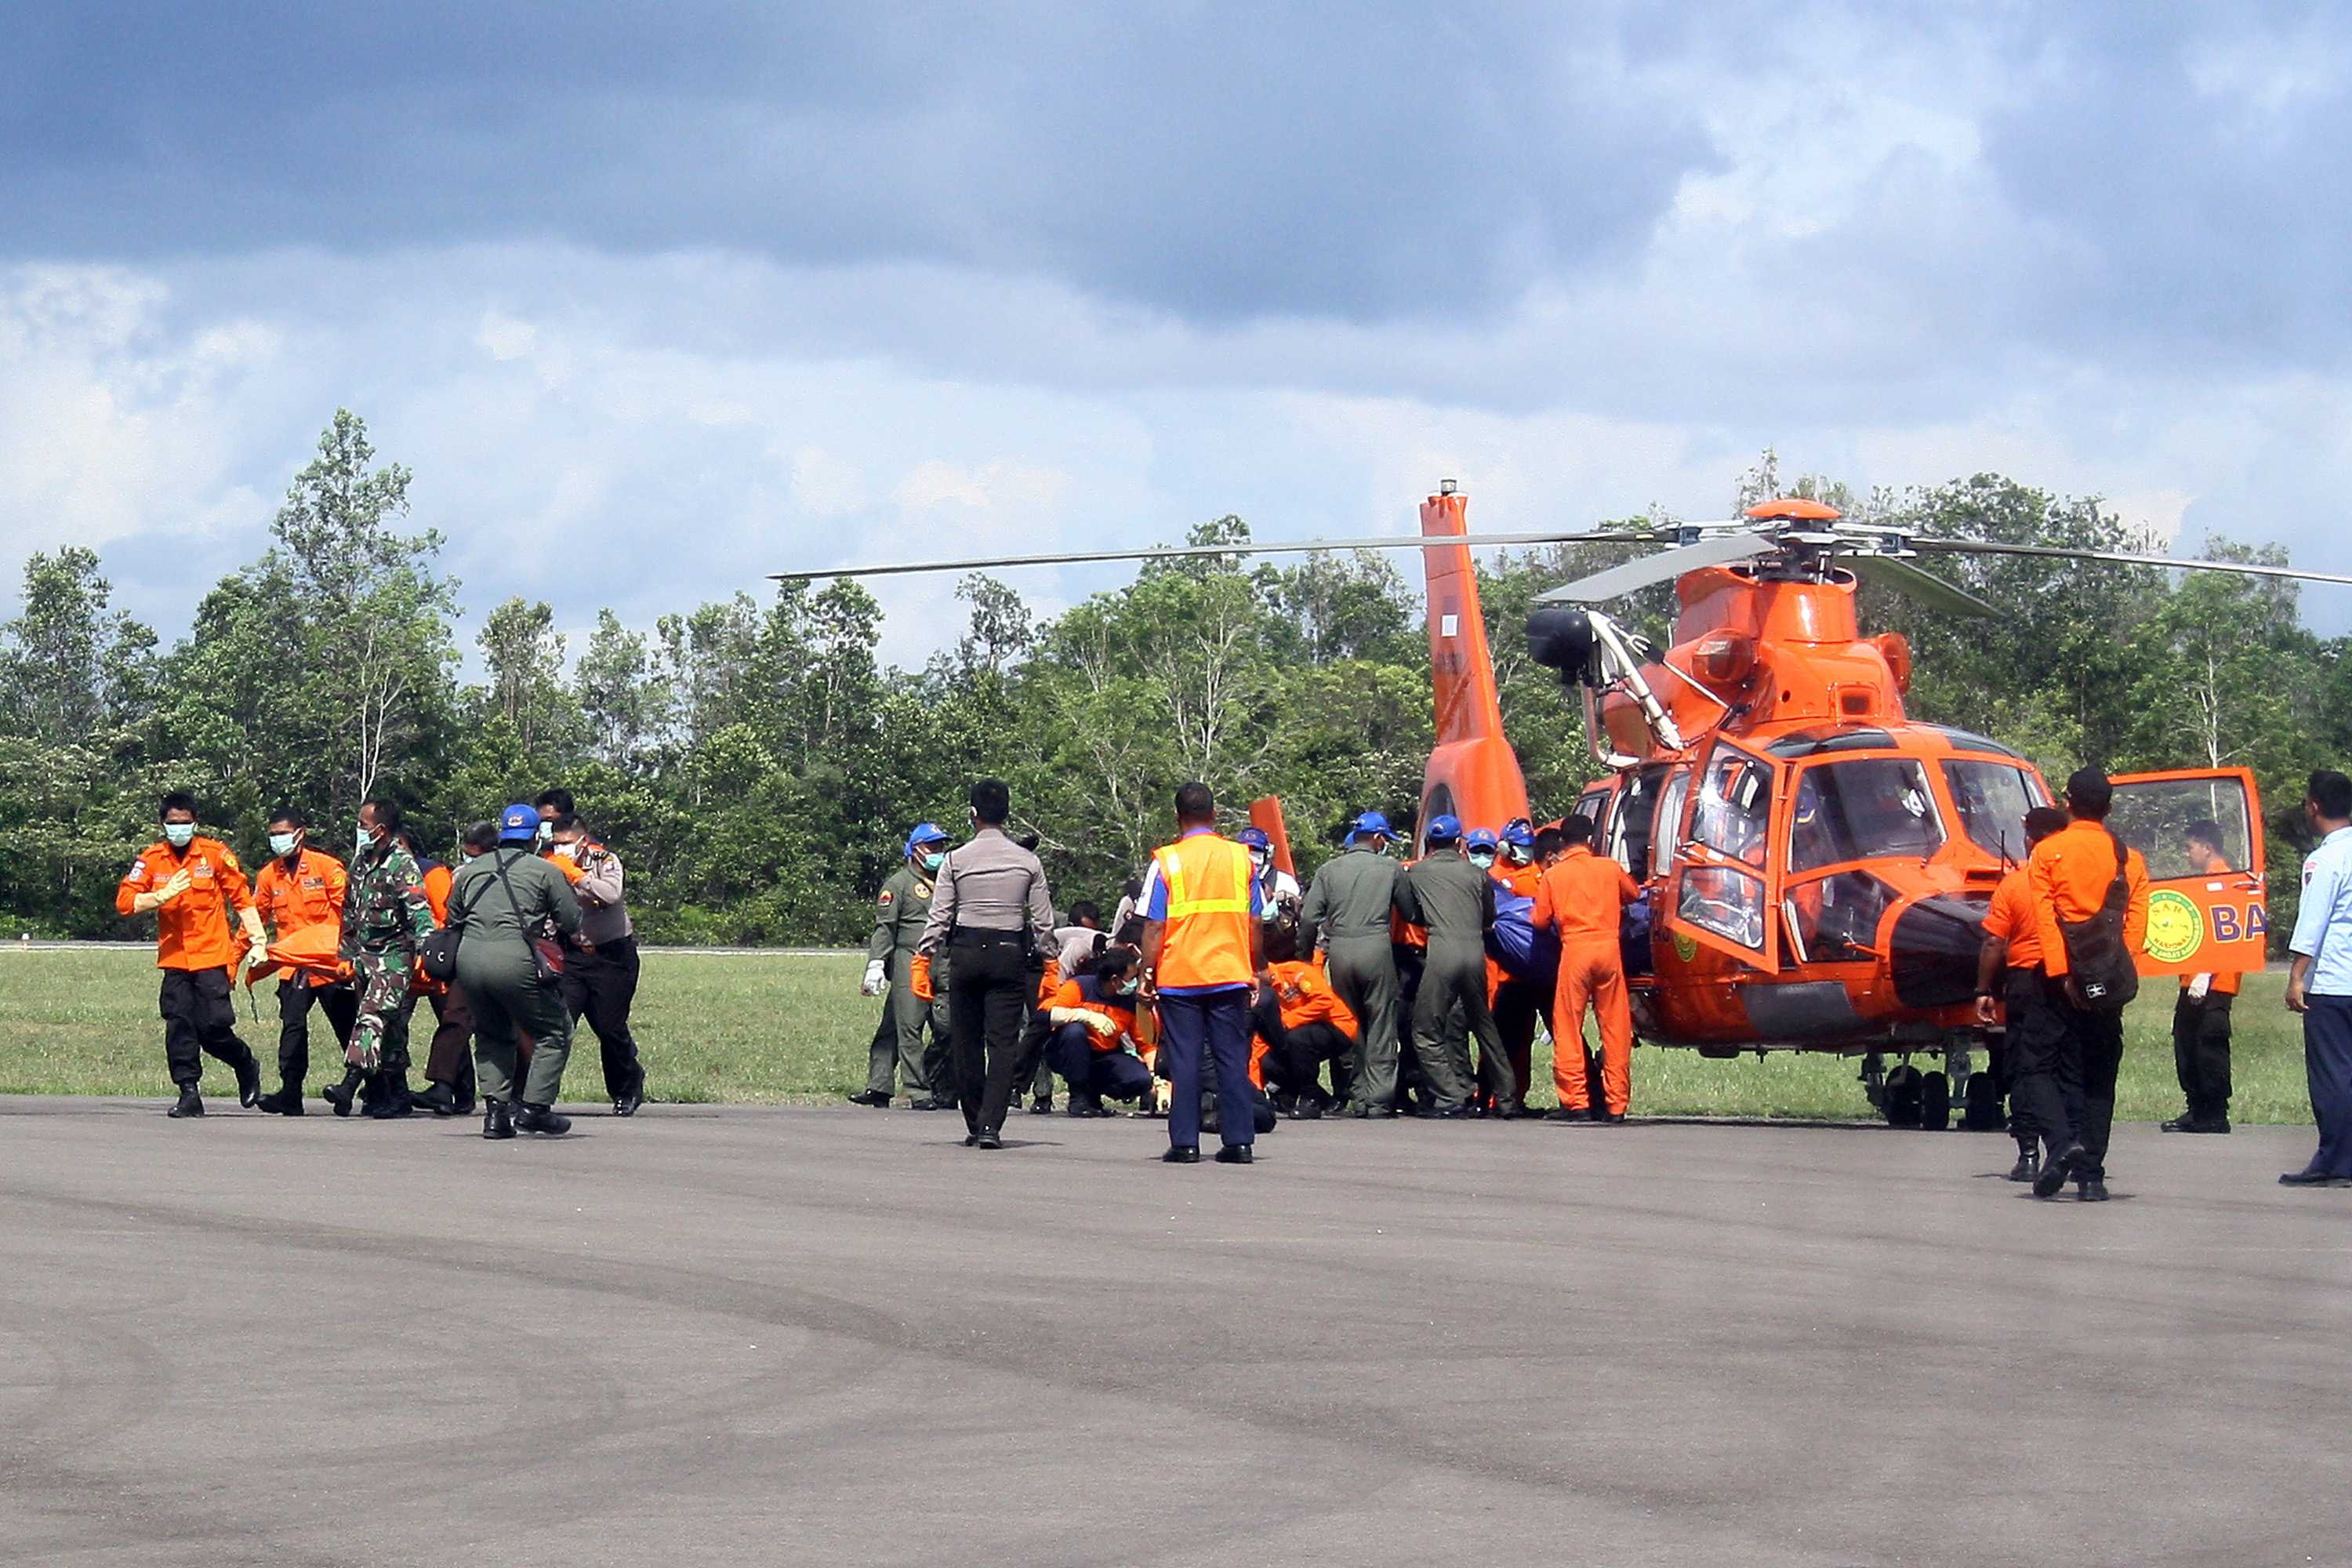
[[[1778, 494], [1776, 458], [1740, 501]], [[1915, 536], [2145, 550], [2096, 498], [1999, 475], [1853, 496], [1792, 494]], [[113, 609], [94, 552], [24, 567], [0, 625], [0, 912], [9, 931], [120, 936], [113, 886], [155, 835], [155, 797], [191, 788], [240, 853], [294, 802], [346, 851], [362, 799], [407, 806], [428, 849], [562, 783], [626, 858], [654, 943], [847, 943], [915, 820], [962, 827], [978, 773], [1011, 783], [1016, 827], [1063, 898], [1115, 896], [1167, 835], [1167, 799], [1282, 795], [1303, 872], [1364, 806], [1409, 820], [1432, 741], [1418, 592], [1383, 555], [1145, 564], [1042, 618], [995, 578], [957, 585], [964, 630], [917, 670], [877, 663], [861, 585], [786, 583], [630, 628], [609, 609], [572, 649], [548, 604], [506, 599], [463, 679], [459, 583], [442, 536], [412, 527], [409, 470], [336, 411], [294, 475], [270, 545], [212, 585], [162, 646]], [[1651, 527], [1630, 517], [1623, 527]], [[1244, 545], [1240, 517], [1188, 543]], [[2274, 545], [2209, 538], [2213, 559]], [[1529, 656], [1538, 592], [1628, 555], [1609, 543], [1505, 552], [1482, 592], [1508, 733], [1538, 811], [1595, 773], [1578, 705]], [[1997, 736], [2046, 776], [2241, 764], [2256, 771], [2284, 936], [2303, 846], [2303, 778], [2352, 755], [2352, 639], [2312, 635], [2293, 583], [2039, 557], [1943, 557], [2002, 607], [1962, 621], [1865, 590], [1872, 630], [1915, 649], [1910, 712]], [[1668, 588], [1628, 621], [1665, 642]]]

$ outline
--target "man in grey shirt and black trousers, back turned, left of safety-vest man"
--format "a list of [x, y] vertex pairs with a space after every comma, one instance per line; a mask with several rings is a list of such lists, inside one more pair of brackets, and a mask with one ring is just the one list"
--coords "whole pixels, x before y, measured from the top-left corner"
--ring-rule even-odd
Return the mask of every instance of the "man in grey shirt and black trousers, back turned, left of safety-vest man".
[[953, 849], [931, 891], [920, 957], [950, 954], [948, 1034], [967, 1147], [1004, 1147], [1004, 1110], [1028, 1020], [1054, 943], [1054, 893], [1037, 856], [1004, 837], [1011, 792], [1002, 778], [971, 785], [971, 842]]

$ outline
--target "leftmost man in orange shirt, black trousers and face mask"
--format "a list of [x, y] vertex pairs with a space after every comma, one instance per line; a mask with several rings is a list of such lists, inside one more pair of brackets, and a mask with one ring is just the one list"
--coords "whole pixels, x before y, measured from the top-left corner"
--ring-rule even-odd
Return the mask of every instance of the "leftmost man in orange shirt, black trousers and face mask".
[[228, 844], [198, 837], [195, 797], [174, 790], [162, 797], [162, 837], [139, 851], [115, 886], [118, 914], [155, 917], [155, 969], [162, 971], [162, 1058], [179, 1086], [172, 1117], [202, 1117], [198, 1084], [205, 1056], [238, 1074], [238, 1100], [261, 1103], [261, 1063], [238, 1039], [238, 1011], [228, 1001], [228, 966], [238, 964], [228, 912], [249, 943], [245, 966], [259, 964], [268, 943], [261, 912], [245, 882], [245, 867]]

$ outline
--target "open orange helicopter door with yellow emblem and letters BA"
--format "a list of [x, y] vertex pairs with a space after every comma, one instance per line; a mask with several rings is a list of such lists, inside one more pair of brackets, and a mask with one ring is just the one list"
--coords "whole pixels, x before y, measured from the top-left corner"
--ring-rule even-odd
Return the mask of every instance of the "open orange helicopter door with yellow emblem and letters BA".
[[[2143, 976], [2246, 973], [2267, 959], [2270, 884], [2263, 802], [2249, 769], [2176, 769], [2110, 778], [2107, 825], [2147, 858]], [[2220, 827], [2227, 870], [2190, 865], [2190, 823]]]

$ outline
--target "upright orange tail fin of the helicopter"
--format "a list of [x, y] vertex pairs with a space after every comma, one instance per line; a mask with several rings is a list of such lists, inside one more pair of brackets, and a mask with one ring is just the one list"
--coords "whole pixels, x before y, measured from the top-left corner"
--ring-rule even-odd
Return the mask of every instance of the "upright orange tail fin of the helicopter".
[[[1468, 531], [1470, 498], [1430, 496], [1421, 503], [1423, 538]], [[1421, 785], [1421, 820], [1458, 816], [1463, 827], [1503, 827], [1526, 816], [1526, 778], [1503, 738], [1503, 698], [1494, 686], [1494, 651], [1477, 602], [1477, 567], [1468, 545], [1432, 543], [1421, 550], [1430, 595], [1430, 684], [1437, 698], [1437, 750]], [[1418, 837], [1418, 835], [1416, 835]]]

